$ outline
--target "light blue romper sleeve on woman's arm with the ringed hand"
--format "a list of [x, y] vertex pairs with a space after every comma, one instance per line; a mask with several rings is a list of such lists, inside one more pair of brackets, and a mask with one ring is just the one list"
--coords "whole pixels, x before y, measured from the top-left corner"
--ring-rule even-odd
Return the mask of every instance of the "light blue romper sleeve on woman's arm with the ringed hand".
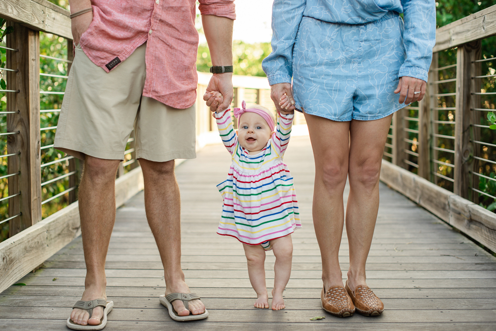
[[409, 76], [427, 82], [435, 44], [434, 0], [401, 0], [405, 31], [406, 60], [399, 77]]

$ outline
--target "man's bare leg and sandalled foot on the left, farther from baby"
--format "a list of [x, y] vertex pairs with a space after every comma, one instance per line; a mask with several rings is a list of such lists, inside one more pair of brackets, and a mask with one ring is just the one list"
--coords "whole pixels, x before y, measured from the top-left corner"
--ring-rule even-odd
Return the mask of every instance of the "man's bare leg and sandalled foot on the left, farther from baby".
[[[107, 299], [105, 259], [110, 235], [116, 219], [115, 178], [119, 160], [104, 160], [87, 156], [79, 185], [79, 216], [86, 262], [85, 290], [81, 300]], [[103, 307], [88, 311], [74, 308], [70, 318], [81, 325], [98, 325]]]

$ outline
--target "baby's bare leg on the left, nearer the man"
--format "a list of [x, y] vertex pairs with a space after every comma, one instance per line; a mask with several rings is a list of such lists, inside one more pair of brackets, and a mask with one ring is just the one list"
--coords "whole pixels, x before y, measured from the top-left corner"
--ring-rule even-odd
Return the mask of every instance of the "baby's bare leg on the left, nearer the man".
[[256, 301], [253, 304], [255, 308], [269, 308], [269, 296], [267, 286], [265, 285], [265, 250], [262, 246], [246, 245], [245, 255], [248, 261], [248, 276], [251, 286], [256, 292]]

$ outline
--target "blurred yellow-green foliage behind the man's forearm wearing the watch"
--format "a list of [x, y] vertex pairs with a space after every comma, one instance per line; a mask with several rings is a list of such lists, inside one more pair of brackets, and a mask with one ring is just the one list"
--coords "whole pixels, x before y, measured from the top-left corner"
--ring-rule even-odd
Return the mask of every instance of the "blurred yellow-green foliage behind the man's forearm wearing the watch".
[[[262, 60], [272, 51], [270, 43], [246, 44], [242, 41], [233, 42], [233, 65], [235, 75], [265, 77], [262, 70]], [[210, 52], [206, 44], [198, 46], [196, 70], [208, 72], [212, 66]]]

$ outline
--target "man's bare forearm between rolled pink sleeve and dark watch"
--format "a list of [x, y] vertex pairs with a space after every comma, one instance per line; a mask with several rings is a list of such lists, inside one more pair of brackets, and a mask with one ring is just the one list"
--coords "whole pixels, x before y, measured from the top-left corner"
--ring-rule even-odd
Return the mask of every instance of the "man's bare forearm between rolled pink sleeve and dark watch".
[[233, 20], [202, 15], [203, 32], [207, 39], [212, 65], [233, 65]]

